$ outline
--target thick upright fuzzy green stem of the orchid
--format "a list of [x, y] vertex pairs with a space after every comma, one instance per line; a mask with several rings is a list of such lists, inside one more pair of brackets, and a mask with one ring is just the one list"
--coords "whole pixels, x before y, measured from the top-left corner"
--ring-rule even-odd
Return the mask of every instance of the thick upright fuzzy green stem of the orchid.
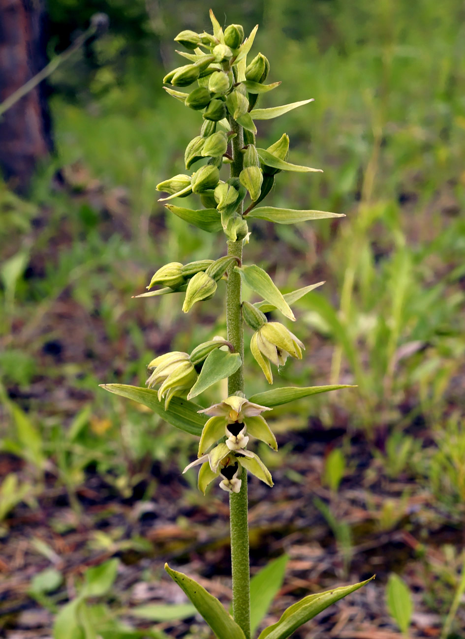
[[[236, 137], [232, 141], [233, 162], [231, 177], [239, 177], [244, 166], [240, 150], [244, 146], [242, 127], [230, 119]], [[238, 209], [242, 213], [242, 203]], [[242, 261], [242, 240], [228, 242], [228, 255]], [[228, 272], [228, 288], [226, 291], [226, 323], [228, 325], [228, 341], [234, 350], [240, 353], [242, 365], [228, 379], [228, 394], [244, 392], [244, 328], [242, 326], [241, 279], [232, 266]], [[239, 493], [230, 493], [230, 529], [231, 529], [231, 563], [234, 619], [244, 631], [246, 639], [250, 639], [250, 569], [249, 569], [249, 525], [247, 498], [247, 471], [242, 470], [242, 484]]]

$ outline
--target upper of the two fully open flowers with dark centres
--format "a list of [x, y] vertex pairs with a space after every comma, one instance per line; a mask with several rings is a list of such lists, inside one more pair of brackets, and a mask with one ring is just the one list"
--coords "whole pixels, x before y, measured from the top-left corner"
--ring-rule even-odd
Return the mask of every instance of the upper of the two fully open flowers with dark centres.
[[226, 435], [229, 450], [244, 449], [249, 442], [248, 435], [265, 442], [273, 450], [278, 449], [276, 438], [260, 413], [271, 410], [248, 401], [246, 397], [232, 395], [219, 404], [200, 410], [199, 413], [211, 415], [203, 427], [199, 443], [199, 456], [205, 454], [210, 446]]

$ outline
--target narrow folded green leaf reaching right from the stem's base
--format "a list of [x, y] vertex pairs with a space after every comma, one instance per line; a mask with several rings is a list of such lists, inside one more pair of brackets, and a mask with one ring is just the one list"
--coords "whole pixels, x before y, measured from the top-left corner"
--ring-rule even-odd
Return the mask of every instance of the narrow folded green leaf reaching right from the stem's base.
[[297, 628], [313, 619], [322, 610], [326, 610], [328, 606], [358, 590], [372, 579], [374, 579], [374, 576], [366, 581], [354, 583], [352, 586], [343, 586], [342, 588], [326, 590], [326, 592], [304, 597], [301, 601], [289, 606], [278, 623], [265, 628], [258, 636], [258, 639], [287, 639]]

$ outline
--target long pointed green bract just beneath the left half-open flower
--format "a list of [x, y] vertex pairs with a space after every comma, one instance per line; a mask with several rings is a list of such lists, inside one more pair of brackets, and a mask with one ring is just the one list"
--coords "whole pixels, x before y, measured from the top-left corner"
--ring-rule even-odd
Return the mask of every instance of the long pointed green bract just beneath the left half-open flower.
[[184, 431], [184, 433], [189, 433], [189, 435], [200, 437], [203, 426], [205, 426], [207, 421], [207, 417], [199, 415], [197, 412], [201, 410], [201, 406], [181, 397], [171, 397], [169, 408], [165, 410], [164, 401], [159, 401], [156, 390], [143, 389], [126, 384], [100, 384], [100, 386], [111, 393], [128, 397], [132, 401], [144, 404], [157, 415], [160, 415], [168, 424]]

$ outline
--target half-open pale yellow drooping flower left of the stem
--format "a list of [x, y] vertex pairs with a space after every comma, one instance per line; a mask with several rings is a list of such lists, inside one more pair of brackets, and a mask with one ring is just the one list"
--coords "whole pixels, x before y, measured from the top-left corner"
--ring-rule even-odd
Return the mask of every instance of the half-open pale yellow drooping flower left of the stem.
[[180, 351], [165, 353], [155, 357], [148, 365], [155, 369], [146, 384], [149, 389], [161, 383], [158, 390], [158, 400], [164, 398], [164, 408], [168, 410], [171, 397], [185, 396], [197, 381], [197, 373], [189, 355]]

